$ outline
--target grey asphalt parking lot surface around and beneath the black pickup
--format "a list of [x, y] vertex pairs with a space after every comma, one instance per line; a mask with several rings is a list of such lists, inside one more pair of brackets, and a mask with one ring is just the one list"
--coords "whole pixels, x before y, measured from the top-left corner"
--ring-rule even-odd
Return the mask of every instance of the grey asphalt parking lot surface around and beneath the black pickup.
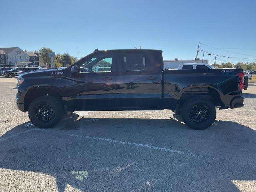
[[256, 83], [206, 130], [163, 111], [75, 112], [39, 129], [0, 77], [0, 191], [256, 191]]

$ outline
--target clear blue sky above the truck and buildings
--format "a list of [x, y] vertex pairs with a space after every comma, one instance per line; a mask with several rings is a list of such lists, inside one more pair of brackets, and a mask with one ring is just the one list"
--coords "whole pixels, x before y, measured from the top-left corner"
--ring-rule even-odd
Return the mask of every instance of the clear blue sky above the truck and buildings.
[[255, 0], [8, 0], [1, 7], [0, 47], [77, 56], [78, 46], [82, 57], [142, 46], [163, 50], [164, 59], [193, 59], [202, 42], [230, 52], [202, 50], [256, 61]]

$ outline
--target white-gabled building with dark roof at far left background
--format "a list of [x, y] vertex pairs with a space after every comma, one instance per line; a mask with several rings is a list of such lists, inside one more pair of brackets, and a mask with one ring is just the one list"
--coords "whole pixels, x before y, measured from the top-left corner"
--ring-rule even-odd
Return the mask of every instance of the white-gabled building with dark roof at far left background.
[[29, 55], [18, 47], [0, 48], [0, 66], [29, 66]]

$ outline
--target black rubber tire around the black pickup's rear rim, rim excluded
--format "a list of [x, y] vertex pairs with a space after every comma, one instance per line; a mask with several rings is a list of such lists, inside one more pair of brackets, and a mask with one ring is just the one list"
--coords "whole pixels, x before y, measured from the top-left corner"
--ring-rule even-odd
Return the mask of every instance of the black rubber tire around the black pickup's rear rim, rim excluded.
[[[209, 118], [200, 124], [193, 122], [190, 118], [190, 112], [196, 105], [204, 105], [208, 107], [207, 111], [209, 113]], [[190, 128], [195, 130], [203, 130], [210, 127], [216, 119], [216, 108], [210, 100], [202, 97], [193, 97], [184, 102], [181, 109], [181, 116], [184, 123]]]

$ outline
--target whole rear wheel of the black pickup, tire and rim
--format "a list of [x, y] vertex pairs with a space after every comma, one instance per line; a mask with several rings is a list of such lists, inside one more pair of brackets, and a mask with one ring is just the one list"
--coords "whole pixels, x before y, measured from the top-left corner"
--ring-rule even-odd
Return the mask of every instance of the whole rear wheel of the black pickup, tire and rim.
[[181, 116], [190, 128], [203, 130], [213, 124], [216, 118], [216, 108], [210, 100], [194, 97], [183, 104]]

